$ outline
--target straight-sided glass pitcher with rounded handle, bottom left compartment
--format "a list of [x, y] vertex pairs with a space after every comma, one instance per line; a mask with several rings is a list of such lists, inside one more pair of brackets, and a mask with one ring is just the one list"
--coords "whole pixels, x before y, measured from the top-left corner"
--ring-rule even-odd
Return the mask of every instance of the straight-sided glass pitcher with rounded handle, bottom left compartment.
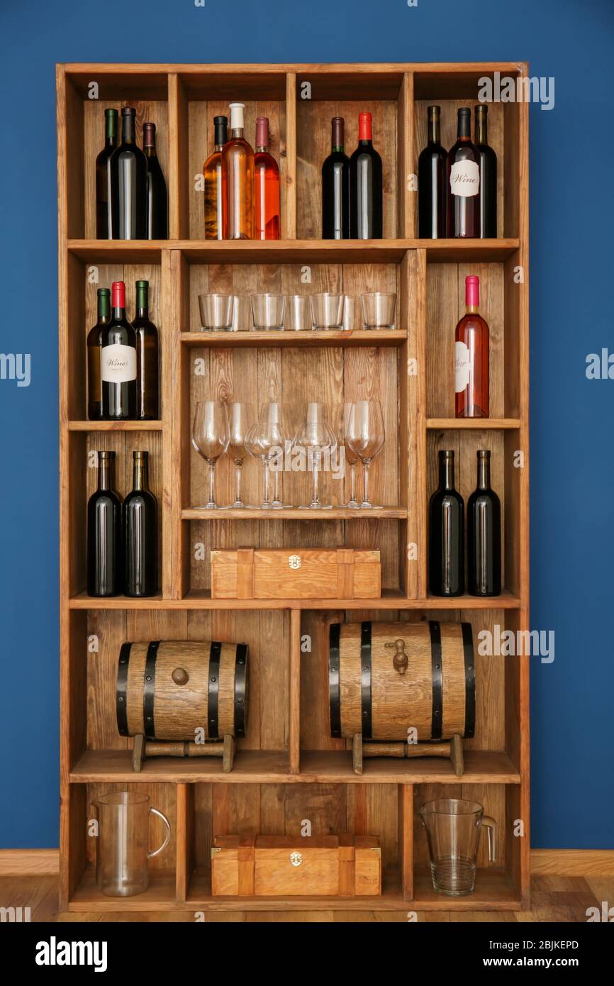
[[[109, 897], [130, 897], [149, 886], [149, 861], [169, 844], [171, 825], [162, 811], [152, 808], [149, 796], [133, 791], [102, 795], [94, 805], [99, 837], [96, 882]], [[166, 832], [161, 846], [149, 849], [149, 816], [162, 818]]]

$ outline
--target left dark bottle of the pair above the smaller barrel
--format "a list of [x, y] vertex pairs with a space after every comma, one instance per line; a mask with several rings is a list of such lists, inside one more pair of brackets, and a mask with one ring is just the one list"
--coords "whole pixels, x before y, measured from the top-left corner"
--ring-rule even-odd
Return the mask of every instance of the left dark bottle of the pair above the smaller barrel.
[[113, 486], [114, 452], [99, 452], [98, 490], [88, 503], [88, 594], [122, 590], [121, 497]]

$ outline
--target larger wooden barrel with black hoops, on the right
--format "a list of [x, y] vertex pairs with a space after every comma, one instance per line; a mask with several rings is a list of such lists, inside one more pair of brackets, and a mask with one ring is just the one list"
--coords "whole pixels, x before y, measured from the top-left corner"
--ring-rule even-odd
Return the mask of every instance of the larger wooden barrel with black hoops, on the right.
[[470, 623], [333, 623], [328, 638], [330, 734], [442, 740], [475, 730]]

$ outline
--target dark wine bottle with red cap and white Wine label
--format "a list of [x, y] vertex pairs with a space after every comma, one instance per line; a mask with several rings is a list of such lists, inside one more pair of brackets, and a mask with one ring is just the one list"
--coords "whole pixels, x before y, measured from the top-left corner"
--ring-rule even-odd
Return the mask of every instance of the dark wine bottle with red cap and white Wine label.
[[102, 417], [136, 418], [136, 333], [126, 318], [126, 286], [113, 281], [111, 317], [102, 331]]

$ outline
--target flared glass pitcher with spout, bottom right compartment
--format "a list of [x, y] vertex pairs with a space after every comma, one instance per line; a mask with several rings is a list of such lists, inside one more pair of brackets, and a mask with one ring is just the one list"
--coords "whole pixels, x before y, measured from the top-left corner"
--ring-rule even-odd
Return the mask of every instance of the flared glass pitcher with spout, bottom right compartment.
[[460, 897], [473, 893], [480, 831], [488, 831], [488, 855], [496, 854], [496, 824], [476, 802], [448, 798], [429, 802], [420, 809], [427, 830], [431, 877], [438, 893]]

